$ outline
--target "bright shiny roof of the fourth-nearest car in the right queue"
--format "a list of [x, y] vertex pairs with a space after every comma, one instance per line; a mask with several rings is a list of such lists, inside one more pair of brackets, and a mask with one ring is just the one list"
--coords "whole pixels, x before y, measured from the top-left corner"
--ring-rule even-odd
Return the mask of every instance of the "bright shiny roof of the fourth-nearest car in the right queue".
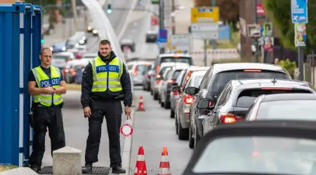
[[287, 73], [287, 70], [282, 68], [282, 66], [276, 66], [275, 64], [264, 64], [264, 63], [254, 63], [254, 62], [235, 62], [235, 63], [221, 63], [213, 65], [213, 74], [220, 73], [223, 71], [239, 70], [239, 69], [260, 69], [267, 71], [279, 71]]

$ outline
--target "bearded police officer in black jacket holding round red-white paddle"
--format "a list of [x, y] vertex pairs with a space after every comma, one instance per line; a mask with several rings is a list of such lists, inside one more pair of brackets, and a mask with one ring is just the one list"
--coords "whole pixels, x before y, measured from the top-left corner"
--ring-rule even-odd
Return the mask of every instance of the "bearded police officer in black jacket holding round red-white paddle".
[[113, 174], [124, 174], [121, 167], [121, 100], [124, 100], [125, 114], [131, 117], [131, 80], [123, 61], [111, 48], [110, 41], [99, 43], [98, 57], [91, 59], [82, 75], [81, 104], [84, 116], [88, 118], [88, 139], [86, 140], [85, 167], [83, 173], [92, 173], [92, 164], [98, 162], [101, 139], [101, 125], [105, 116], [110, 147], [110, 167]]

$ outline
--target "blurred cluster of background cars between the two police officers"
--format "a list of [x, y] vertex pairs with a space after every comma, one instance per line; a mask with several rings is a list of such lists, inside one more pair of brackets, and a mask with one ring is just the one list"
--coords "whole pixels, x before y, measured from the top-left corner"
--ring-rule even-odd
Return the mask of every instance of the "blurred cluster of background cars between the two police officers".
[[[93, 32], [93, 30], [92, 30]], [[97, 53], [88, 53], [85, 31], [77, 31], [66, 41], [51, 46], [53, 52], [52, 66], [62, 70], [66, 83], [81, 83], [84, 68]]]

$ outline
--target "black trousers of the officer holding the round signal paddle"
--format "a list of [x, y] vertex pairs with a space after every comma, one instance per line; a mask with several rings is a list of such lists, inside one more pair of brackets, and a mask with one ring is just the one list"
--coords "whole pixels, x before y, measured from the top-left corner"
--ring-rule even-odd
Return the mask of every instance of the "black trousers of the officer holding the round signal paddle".
[[121, 167], [121, 144], [119, 128], [121, 127], [121, 102], [92, 101], [91, 116], [88, 118], [88, 139], [86, 140], [86, 163], [98, 162], [103, 118], [107, 123], [109, 137], [110, 167]]

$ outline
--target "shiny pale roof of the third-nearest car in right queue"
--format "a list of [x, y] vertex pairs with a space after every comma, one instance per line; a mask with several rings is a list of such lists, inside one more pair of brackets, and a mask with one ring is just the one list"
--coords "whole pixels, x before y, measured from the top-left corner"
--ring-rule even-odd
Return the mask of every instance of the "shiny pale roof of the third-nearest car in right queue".
[[308, 83], [298, 80], [286, 79], [246, 79], [231, 80], [233, 85], [237, 85], [237, 89], [263, 88], [263, 87], [287, 87], [311, 90]]

